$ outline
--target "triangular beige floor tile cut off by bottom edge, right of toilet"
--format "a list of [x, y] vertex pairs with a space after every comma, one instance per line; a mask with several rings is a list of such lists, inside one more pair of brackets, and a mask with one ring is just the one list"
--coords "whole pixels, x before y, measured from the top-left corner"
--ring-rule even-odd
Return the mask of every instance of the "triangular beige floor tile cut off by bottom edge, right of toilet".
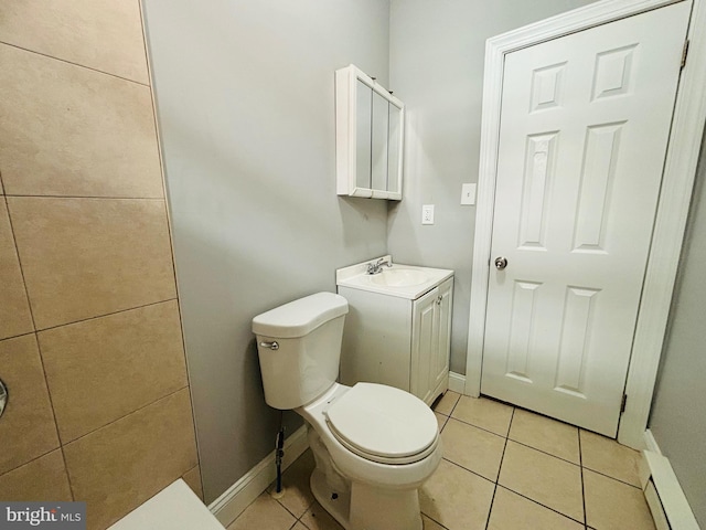
[[499, 486], [488, 530], [581, 530], [584, 524]]

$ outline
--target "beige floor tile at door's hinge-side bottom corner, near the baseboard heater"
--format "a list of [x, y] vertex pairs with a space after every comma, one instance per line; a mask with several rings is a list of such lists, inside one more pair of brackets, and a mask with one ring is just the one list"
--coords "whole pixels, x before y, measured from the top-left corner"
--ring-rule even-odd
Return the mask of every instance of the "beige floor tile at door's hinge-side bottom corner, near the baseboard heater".
[[642, 456], [611, 438], [581, 430], [584, 467], [623, 483], [640, 486], [638, 466]]

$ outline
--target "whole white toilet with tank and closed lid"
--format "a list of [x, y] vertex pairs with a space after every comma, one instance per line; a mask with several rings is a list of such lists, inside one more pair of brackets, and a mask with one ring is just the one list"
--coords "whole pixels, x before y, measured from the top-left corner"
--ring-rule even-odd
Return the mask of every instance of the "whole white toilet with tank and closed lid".
[[442, 457], [436, 416], [403, 390], [336, 383], [347, 310], [318, 293], [253, 319], [265, 401], [304, 418], [311, 490], [343, 528], [421, 530], [418, 489]]

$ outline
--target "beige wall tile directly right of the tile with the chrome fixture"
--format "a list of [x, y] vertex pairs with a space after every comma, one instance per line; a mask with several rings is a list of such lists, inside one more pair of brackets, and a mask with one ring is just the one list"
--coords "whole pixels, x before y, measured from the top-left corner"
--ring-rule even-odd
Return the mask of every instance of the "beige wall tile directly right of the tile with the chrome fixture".
[[38, 337], [63, 443], [188, 384], [176, 300]]

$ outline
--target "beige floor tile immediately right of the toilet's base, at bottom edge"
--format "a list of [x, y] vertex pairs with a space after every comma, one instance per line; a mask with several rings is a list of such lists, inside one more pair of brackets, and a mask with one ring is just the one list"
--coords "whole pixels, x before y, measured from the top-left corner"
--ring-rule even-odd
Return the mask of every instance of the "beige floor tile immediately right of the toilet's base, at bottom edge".
[[447, 460], [419, 490], [421, 512], [449, 530], [484, 528], [494, 485]]

